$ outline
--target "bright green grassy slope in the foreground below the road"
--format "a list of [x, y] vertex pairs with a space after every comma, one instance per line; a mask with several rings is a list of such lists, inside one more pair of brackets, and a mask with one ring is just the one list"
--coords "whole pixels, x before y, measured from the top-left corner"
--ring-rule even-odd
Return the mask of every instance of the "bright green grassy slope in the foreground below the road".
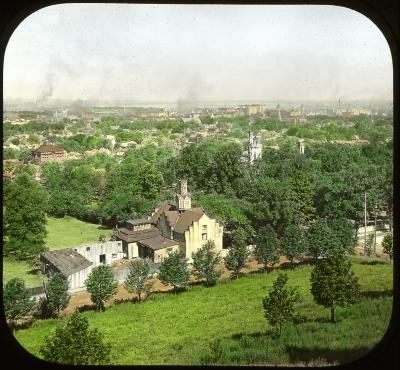
[[[329, 310], [313, 303], [311, 266], [286, 270], [288, 284], [304, 298], [302, 322], [287, 326], [281, 339], [266, 335], [262, 299], [279, 271], [253, 273], [206, 288], [192, 286], [179, 294], [154, 294], [140, 304], [114, 304], [105, 312], [83, 313], [91, 327], [112, 344], [116, 364], [236, 364], [299, 362], [329, 353], [327, 361], [347, 361], [368, 352], [383, 336], [391, 315], [393, 269], [388, 264], [355, 260], [362, 298], [339, 308], [337, 323]], [[38, 355], [57, 320], [39, 320], [16, 332], [17, 340]], [[343, 355], [346, 354], [346, 355]], [[336, 356], [336, 357], [335, 357]], [[353, 356], [353, 357], [352, 357]], [[305, 357], [305, 358], [304, 358]]]

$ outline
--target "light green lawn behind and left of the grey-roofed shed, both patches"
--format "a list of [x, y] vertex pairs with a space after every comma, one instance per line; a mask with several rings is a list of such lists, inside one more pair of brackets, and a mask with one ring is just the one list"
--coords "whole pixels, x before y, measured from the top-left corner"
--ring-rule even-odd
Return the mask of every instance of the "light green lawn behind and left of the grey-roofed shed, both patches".
[[[46, 246], [50, 250], [74, 247], [82, 244], [96, 243], [100, 235], [108, 238], [111, 230], [100, 225], [77, 220], [73, 217], [47, 218]], [[30, 274], [30, 267], [26, 262], [3, 258], [3, 282], [19, 277], [25, 281], [27, 287], [42, 284], [41, 274]]]

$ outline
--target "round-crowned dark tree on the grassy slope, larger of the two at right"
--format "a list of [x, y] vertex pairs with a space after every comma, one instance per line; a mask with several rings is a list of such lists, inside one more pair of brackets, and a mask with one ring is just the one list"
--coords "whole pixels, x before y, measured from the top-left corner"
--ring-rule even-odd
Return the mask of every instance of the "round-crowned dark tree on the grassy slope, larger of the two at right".
[[311, 272], [311, 293], [314, 301], [331, 310], [335, 322], [335, 308], [351, 303], [358, 295], [358, 278], [350, 270], [351, 263], [341, 255], [322, 260]]

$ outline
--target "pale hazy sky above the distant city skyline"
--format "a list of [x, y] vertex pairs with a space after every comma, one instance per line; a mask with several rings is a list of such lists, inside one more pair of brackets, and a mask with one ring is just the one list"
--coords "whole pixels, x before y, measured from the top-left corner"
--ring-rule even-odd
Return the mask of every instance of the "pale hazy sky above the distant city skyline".
[[63, 4], [26, 18], [5, 98], [392, 99], [389, 46], [336, 6]]

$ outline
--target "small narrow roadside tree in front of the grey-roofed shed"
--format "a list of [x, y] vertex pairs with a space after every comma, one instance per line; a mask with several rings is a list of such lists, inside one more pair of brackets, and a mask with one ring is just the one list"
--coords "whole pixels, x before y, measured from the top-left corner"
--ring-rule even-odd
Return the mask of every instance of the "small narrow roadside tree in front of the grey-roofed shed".
[[51, 313], [60, 311], [68, 306], [70, 295], [68, 294], [68, 281], [60, 273], [54, 274], [47, 286], [45, 286], [46, 306]]

